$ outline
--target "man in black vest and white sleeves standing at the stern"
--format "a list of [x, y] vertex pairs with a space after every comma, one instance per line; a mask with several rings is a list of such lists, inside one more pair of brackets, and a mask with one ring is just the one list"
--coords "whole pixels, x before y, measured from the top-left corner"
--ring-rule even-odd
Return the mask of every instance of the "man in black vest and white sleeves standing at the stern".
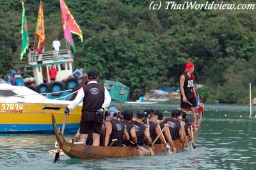
[[111, 97], [108, 90], [98, 84], [98, 72], [88, 72], [88, 84], [80, 88], [76, 98], [65, 109], [65, 114], [83, 102], [82, 116], [80, 121], [80, 141], [84, 144], [89, 132], [93, 132], [93, 146], [99, 146], [100, 134], [102, 134], [103, 111], [109, 106]]

